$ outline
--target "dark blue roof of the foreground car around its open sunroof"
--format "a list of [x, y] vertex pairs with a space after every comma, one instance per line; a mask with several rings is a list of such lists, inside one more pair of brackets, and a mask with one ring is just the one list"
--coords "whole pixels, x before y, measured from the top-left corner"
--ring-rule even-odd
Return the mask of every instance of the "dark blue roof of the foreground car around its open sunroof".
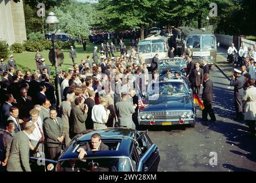
[[61, 154], [59, 160], [77, 158], [78, 153], [74, 152], [80, 144], [85, 144], [91, 141], [91, 136], [94, 133], [99, 133], [102, 136], [102, 142], [119, 142], [118, 150], [103, 150], [99, 152], [87, 152], [87, 157], [110, 157], [110, 156], [130, 156], [131, 148], [138, 132], [133, 129], [122, 129], [122, 128], [106, 128], [100, 130], [86, 130], [83, 133], [77, 134], [73, 138], [71, 144]]

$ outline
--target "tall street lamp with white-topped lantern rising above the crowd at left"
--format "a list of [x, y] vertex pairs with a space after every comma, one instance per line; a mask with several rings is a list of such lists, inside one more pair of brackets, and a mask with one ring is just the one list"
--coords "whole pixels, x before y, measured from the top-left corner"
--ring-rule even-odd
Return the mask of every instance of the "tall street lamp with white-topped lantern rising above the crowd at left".
[[57, 79], [57, 108], [60, 109], [61, 104], [61, 94], [60, 94], [60, 78], [59, 78], [59, 65], [56, 61], [56, 45], [55, 45], [55, 34], [58, 30], [58, 23], [59, 20], [55, 16], [55, 14], [51, 11], [49, 12], [48, 17], [45, 20], [46, 25], [48, 26], [49, 31], [52, 33], [52, 45], [53, 45], [53, 59], [55, 63], [55, 72], [56, 72], [56, 79]]

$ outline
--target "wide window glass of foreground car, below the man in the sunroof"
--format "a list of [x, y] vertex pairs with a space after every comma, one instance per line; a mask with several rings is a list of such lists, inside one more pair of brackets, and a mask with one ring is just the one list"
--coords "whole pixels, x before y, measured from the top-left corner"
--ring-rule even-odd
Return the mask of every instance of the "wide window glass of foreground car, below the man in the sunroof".
[[61, 161], [60, 172], [131, 172], [130, 159], [127, 157], [88, 157], [83, 160]]

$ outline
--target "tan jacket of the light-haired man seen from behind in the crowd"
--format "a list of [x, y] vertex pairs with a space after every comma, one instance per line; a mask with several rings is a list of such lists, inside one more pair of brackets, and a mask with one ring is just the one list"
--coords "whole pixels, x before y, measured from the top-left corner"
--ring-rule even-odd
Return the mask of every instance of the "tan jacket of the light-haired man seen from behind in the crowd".
[[64, 128], [67, 129], [69, 129], [69, 117], [71, 109], [71, 104], [68, 101], [63, 101], [60, 105], [60, 117], [64, 124]]

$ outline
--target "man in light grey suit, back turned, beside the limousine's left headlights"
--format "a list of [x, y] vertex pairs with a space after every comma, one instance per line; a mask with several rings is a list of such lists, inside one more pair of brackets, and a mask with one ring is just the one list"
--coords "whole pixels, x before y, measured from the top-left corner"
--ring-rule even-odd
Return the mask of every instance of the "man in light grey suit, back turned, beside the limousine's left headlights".
[[117, 102], [116, 104], [117, 117], [121, 128], [135, 129], [135, 124], [131, 115], [135, 113], [136, 106], [133, 106], [131, 102], [127, 101], [127, 97], [127, 93], [122, 92], [122, 101]]

